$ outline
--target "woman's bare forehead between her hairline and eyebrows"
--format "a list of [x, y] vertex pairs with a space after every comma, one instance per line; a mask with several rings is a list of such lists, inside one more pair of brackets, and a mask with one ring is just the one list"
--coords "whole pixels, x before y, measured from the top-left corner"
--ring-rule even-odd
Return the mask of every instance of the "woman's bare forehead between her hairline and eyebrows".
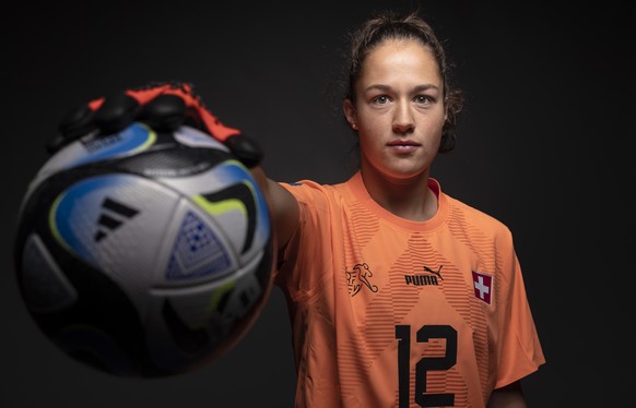
[[376, 46], [362, 65], [361, 82], [411, 80], [441, 84], [439, 65], [429, 46], [416, 39], [388, 39]]

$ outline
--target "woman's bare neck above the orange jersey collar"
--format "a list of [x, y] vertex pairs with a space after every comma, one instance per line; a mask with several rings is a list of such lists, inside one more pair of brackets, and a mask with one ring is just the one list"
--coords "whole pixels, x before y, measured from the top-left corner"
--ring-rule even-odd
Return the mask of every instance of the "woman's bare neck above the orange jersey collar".
[[412, 221], [425, 221], [437, 213], [437, 196], [428, 188], [429, 170], [410, 178], [391, 178], [370, 166], [361, 168], [372, 199], [388, 212]]

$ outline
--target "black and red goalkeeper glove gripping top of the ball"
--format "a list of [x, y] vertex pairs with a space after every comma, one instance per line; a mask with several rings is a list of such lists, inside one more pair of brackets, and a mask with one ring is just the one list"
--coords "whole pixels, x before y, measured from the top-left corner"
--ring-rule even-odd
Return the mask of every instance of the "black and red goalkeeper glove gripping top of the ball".
[[150, 83], [73, 109], [61, 121], [59, 134], [47, 144], [47, 151], [54, 154], [87, 133], [111, 134], [136, 121], [165, 132], [182, 124], [196, 128], [227, 146], [249, 168], [262, 159], [262, 152], [254, 140], [221, 123], [192, 92], [192, 85], [182, 82]]

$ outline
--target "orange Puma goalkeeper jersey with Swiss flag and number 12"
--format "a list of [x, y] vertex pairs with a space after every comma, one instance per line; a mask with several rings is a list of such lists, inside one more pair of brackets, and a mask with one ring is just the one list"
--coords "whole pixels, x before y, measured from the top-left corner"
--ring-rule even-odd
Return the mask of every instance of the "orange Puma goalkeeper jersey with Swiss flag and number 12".
[[299, 227], [276, 275], [298, 407], [485, 407], [545, 359], [508, 228], [440, 191], [424, 223], [387, 212], [360, 172], [282, 183]]

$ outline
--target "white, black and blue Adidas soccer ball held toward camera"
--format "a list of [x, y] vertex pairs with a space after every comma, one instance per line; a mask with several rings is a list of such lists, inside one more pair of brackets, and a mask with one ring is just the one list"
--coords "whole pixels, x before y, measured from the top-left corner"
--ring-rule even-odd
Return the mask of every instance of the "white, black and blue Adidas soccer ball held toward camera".
[[192, 370], [259, 315], [275, 262], [263, 196], [225, 146], [142, 123], [56, 153], [20, 208], [14, 262], [37, 326], [120, 376]]

